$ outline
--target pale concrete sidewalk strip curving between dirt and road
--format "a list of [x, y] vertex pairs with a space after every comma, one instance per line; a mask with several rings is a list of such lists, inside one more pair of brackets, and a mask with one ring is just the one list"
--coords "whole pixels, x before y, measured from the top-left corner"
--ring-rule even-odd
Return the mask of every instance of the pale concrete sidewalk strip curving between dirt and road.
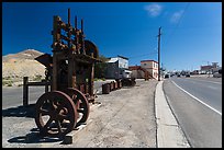
[[180, 126], [167, 103], [163, 90], [163, 82], [159, 81], [155, 93], [155, 109], [157, 123], [157, 147], [158, 148], [189, 148]]

